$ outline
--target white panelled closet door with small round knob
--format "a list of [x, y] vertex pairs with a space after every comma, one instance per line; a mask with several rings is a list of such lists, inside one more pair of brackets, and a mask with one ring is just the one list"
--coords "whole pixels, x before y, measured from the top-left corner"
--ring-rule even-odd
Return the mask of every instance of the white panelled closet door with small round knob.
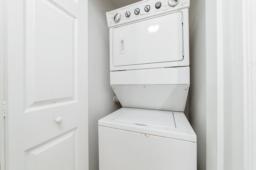
[[87, 170], [87, 0], [6, 2], [6, 170]]

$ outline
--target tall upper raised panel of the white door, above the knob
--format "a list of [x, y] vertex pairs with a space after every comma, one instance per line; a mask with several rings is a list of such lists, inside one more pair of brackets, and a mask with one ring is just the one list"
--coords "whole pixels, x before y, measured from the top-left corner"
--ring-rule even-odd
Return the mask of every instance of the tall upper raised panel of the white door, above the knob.
[[[52, 0], [33, 0], [25, 3], [25, 112], [30, 107], [47, 107], [49, 104], [76, 100], [76, 14]], [[47, 11], [47, 14], [44, 14], [44, 11]], [[54, 39], [56, 41], [52, 41]], [[61, 44], [59, 39], [62, 39]], [[45, 44], [47, 41], [48, 44]]]

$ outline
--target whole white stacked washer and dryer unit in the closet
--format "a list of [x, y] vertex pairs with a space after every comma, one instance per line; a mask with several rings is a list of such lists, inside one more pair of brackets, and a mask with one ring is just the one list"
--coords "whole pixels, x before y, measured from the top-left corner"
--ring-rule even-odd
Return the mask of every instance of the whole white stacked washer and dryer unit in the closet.
[[189, 3], [143, 0], [106, 13], [122, 108], [98, 122], [100, 170], [196, 170], [196, 134], [183, 113]]

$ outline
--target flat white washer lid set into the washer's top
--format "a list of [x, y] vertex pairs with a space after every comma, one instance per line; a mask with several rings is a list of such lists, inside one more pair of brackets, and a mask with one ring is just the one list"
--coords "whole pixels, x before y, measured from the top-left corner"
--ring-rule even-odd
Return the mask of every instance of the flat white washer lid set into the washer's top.
[[142, 126], [176, 128], [173, 113], [170, 111], [129, 108], [114, 118], [114, 121], [123, 121]]

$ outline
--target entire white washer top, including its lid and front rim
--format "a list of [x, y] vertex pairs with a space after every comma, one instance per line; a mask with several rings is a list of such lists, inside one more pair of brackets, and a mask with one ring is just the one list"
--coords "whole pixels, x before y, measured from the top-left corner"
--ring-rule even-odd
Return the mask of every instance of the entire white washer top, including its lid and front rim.
[[182, 112], [122, 107], [98, 125], [196, 143], [196, 134]]

